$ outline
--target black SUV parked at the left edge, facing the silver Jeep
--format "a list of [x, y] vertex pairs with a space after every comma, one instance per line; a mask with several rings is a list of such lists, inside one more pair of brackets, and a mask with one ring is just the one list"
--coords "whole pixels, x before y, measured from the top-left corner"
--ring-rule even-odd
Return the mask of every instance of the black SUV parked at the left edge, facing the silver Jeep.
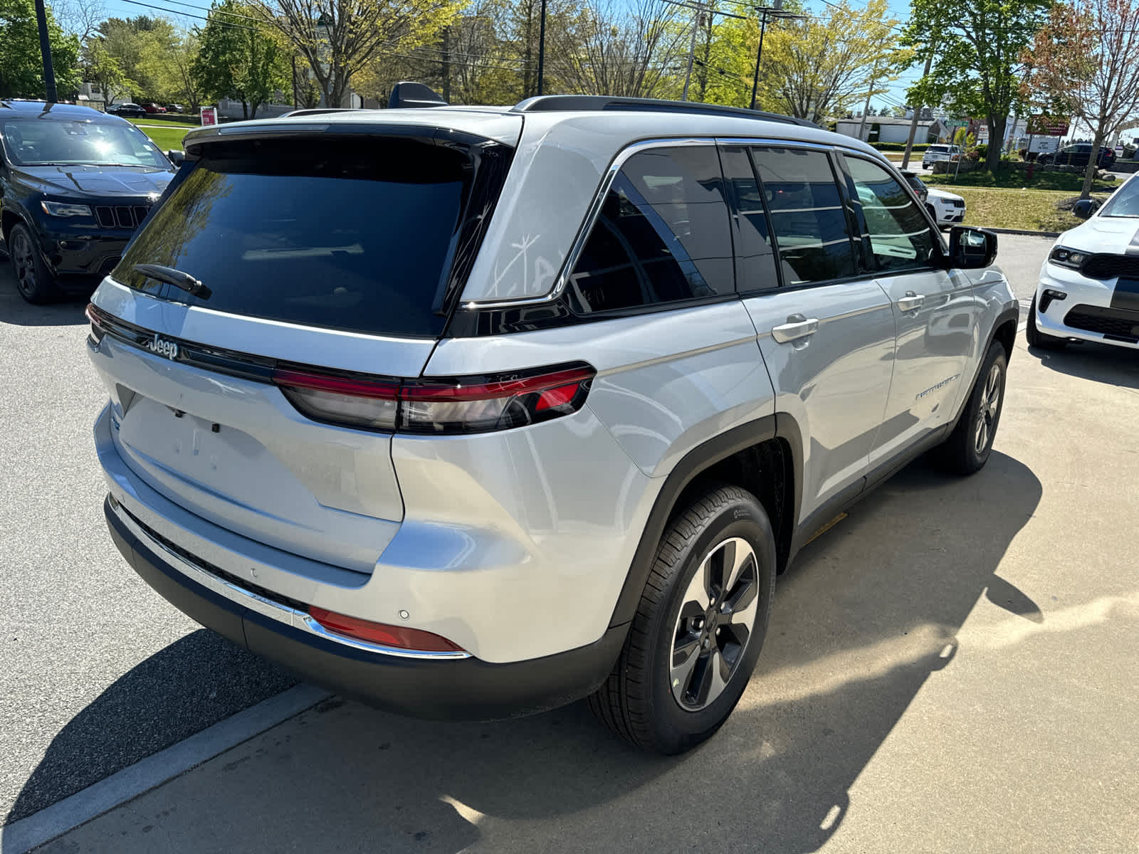
[[89, 107], [0, 100], [0, 236], [31, 303], [90, 291], [174, 176], [150, 139]]

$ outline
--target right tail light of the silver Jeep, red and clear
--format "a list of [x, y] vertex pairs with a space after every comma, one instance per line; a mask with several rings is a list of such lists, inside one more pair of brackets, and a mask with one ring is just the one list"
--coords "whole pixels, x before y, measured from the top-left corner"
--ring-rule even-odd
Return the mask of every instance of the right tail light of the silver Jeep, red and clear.
[[273, 383], [319, 421], [384, 432], [485, 433], [576, 412], [596, 371], [588, 364], [498, 377], [388, 380], [277, 370]]

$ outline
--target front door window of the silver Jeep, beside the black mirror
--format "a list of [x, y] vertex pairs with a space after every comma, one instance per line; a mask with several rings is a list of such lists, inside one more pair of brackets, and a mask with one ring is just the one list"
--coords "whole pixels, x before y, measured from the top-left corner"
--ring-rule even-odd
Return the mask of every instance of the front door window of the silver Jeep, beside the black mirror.
[[937, 239], [918, 203], [876, 163], [846, 157], [846, 167], [858, 192], [876, 269], [927, 266], [936, 252]]

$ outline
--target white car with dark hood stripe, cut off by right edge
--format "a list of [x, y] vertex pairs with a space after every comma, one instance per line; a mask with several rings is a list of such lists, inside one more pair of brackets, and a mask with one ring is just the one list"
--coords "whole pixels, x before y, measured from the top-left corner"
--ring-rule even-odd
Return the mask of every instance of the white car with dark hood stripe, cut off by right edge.
[[1092, 213], [1065, 231], [1040, 268], [1025, 335], [1036, 347], [1092, 340], [1139, 348], [1139, 176], [1131, 178]]

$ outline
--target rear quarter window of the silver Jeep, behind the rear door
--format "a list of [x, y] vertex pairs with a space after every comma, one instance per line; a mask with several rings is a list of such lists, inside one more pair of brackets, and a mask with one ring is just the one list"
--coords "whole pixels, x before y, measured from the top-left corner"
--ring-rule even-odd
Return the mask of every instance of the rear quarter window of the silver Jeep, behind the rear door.
[[654, 148], [621, 167], [570, 288], [580, 311], [734, 294], [731, 232], [713, 146]]

